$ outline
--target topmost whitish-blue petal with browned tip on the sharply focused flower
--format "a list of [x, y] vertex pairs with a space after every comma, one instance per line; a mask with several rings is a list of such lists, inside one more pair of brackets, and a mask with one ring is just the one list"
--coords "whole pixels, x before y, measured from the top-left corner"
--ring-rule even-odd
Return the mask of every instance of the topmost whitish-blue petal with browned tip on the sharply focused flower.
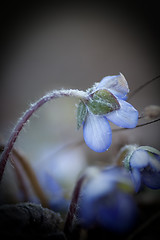
[[115, 75], [115, 76], [107, 76], [104, 77], [99, 85], [98, 89], [106, 88], [109, 90], [113, 95], [118, 98], [126, 99], [126, 95], [129, 92], [128, 83], [123, 76], [123, 74]]

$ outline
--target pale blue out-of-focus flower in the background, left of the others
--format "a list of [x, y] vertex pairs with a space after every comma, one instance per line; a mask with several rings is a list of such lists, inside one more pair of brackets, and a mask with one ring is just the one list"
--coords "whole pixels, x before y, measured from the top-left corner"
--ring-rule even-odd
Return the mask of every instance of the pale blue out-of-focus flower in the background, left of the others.
[[52, 210], [67, 211], [76, 179], [86, 164], [81, 146], [63, 149], [63, 145], [47, 148], [35, 162], [35, 173]]

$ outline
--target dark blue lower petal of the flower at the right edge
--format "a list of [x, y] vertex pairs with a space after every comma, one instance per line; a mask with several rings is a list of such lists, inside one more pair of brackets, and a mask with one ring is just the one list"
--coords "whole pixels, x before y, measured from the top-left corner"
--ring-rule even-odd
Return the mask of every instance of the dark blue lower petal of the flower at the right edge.
[[160, 172], [153, 172], [144, 170], [142, 173], [143, 183], [152, 189], [160, 188]]

